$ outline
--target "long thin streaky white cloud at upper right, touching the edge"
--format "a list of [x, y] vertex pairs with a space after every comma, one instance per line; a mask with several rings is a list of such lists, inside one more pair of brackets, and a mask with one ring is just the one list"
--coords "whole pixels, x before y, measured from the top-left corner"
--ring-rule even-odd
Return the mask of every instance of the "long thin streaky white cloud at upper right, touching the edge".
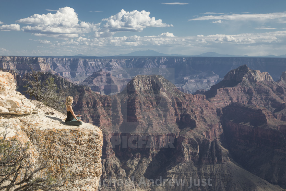
[[[211, 13], [210, 13], [211, 14]], [[278, 19], [279, 22], [284, 22], [286, 12], [266, 13], [266, 14], [224, 14], [224, 15], [207, 15], [189, 19], [188, 21], [204, 21], [204, 20], [270, 20]]]

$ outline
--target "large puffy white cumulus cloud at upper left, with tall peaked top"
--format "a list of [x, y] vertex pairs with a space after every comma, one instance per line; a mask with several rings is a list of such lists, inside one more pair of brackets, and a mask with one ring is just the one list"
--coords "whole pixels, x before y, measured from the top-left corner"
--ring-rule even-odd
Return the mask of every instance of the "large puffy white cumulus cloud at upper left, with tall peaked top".
[[60, 8], [56, 13], [34, 14], [30, 17], [19, 19], [16, 22], [31, 24], [22, 27], [25, 32], [34, 33], [36, 36], [50, 36], [55, 38], [74, 38], [78, 34], [89, 33], [98, 29], [98, 24], [79, 21], [78, 14], [71, 7]]

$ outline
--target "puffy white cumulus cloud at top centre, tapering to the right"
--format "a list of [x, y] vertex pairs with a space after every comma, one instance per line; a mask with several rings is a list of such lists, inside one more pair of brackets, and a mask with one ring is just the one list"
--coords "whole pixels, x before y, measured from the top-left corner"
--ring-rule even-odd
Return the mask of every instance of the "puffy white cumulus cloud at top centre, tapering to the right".
[[162, 23], [161, 19], [156, 20], [155, 17], [149, 17], [150, 12], [147, 11], [125, 11], [122, 9], [116, 15], [112, 15], [107, 19], [104, 28], [109, 29], [111, 32], [118, 31], [142, 31], [146, 27], [170, 27], [166, 23]]

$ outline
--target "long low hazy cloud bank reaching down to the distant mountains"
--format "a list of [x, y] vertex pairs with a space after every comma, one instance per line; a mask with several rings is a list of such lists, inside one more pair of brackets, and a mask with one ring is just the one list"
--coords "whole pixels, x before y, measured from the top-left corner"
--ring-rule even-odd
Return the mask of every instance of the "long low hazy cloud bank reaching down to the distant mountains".
[[[74, 55], [86, 52], [86, 55], [123, 54], [134, 50], [154, 49], [168, 54], [201, 54], [220, 51], [232, 55], [258, 56], [263, 54], [285, 54], [286, 31], [249, 34], [213, 34], [178, 37], [172, 33], [156, 36], [122, 36], [59, 40], [48, 46], [57, 55]], [[70, 53], [70, 52], [73, 53]], [[59, 54], [59, 52], [61, 54]], [[95, 53], [96, 52], [96, 53]], [[191, 53], [190, 53], [191, 52]]]

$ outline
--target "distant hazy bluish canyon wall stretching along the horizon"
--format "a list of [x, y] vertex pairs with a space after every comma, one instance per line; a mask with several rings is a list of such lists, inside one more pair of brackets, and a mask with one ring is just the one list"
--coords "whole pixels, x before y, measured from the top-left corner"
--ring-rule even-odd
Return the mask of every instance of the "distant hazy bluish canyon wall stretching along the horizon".
[[[48, 65], [47, 65], [48, 64]], [[1, 56], [0, 67], [15, 70], [21, 76], [35, 70], [58, 73], [78, 84], [101, 68], [117, 78], [131, 79], [136, 75], [159, 74], [182, 91], [193, 93], [208, 90], [222, 80], [229, 70], [247, 64], [255, 70], [267, 71], [278, 80], [286, 70], [285, 58], [219, 58], [219, 57], [89, 57], [89, 58], [32, 58]], [[213, 73], [213, 74], [212, 74]], [[122, 75], [122, 76], [119, 76]], [[95, 84], [101, 86], [102, 84]], [[94, 84], [91, 84], [94, 86]], [[120, 89], [120, 86], [117, 87]]]

